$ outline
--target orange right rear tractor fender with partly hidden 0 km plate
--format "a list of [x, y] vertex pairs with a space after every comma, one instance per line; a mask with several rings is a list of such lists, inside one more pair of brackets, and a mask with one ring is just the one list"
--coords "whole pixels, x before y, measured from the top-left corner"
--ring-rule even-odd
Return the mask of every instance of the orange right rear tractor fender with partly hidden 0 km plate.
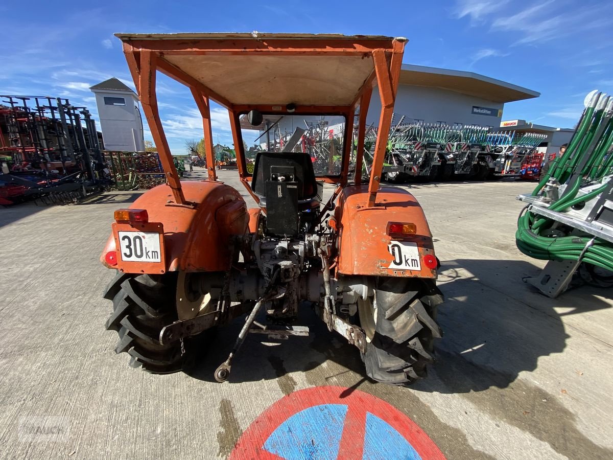
[[[367, 207], [368, 186], [349, 186], [335, 209], [337, 271], [343, 275], [436, 278], [436, 256], [424, 211], [401, 188], [381, 187]], [[410, 223], [415, 234], [390, 237], [390, 223]]]

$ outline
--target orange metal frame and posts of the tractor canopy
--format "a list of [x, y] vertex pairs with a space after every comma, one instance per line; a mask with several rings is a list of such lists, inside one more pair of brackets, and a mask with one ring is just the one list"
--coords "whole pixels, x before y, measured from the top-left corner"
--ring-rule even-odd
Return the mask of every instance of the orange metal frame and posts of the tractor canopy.
[[[167, 180], [173, 190], [175, 200], [180, 204], [189, 204], [186, 202], [183, 192], [181, 191], [181, 183], [178, 178], [177, 171], [170, 155], [170, 150], [162, 130], [161, 122], [159, 121], [158, 104], [155, 95], [155, 72], [159, 71], [177, 80], [180, 83], [188, 86], [194, 98], [199, 105], [200, 112], [203, 118], [203, 127], [205, 131], [205, 139], [208, 138], [208, 144], [212, 145], [212, 136], [210, 136], [210, 106], [208, 99], [213, 99], [219, 104], [224, 105], [230, 110], [230, 125], [232, 126], [233, 136], [235, 140], [235, 150], [239, 156], [238, 162], [240, 177], [243, 184], [250, 190], [248, 182], [245, 180], [246, 167], [244, 152], [242, 151], [242, 142], [237, 142], [240, 137], [240, 130], [237, 126], [237, 117], [235, 113], [243, 112], [251, 109], [258, 109], [263, 112], [269, 109], [275, 112], [274, 109], [284, 107], [276, 107], [273, 105], [233, 105], [231, 101], [223, 98], [223, 96], [215, 93], [215, 91], [207, 88], [199, 80], [191, 75], [186, 74], [177, 66], [169, 63], [164, 59], [167, 55], [326, 55], [326, 56], [351, 56], [359, 55], [362, 58], [370, 58], [372, 56], [375, 61], [375, 69], [365, 80], [364, 85], [356, 94], [354, 103], [349, 106], [309, 106], [300, 107], [299, 112], [302, 113], [342, 113], [348, 119], [348, 126], [352, 127], [350, 120], [353, 109], [358, 101], [364, 102], [364, 94], [371, 91], [372, 85], [375, 82], [378, 84], [383, 108], [381, 118], [379, 120], [379, 136], [375, 147], [375, 158], [373, 159], [373, 171], [370, 180], [370, 195], [368, 197], [368, 205], [375, 205], [376, 193], [379, 188], [381, 179], [381, 170], [383, 169], [383, 158], [385, 154], [385, 144], [387, 134], [389, 134], [389, 124], [392, 117], [393, 103], [398, 86], [398, 77], [400, 75], [400, 66], [402, 64], [402, 54], [405, 46], [405, 40], [392, 40], [392, 48], [390, 48], [390, 39], [387, 37], [333, 37], [333, 36], [271, 36], [269, 34], [245, 36], [232, 35], [218, 37], [177, 37], [175, 39], [161, 38], [158, 36], [129, 36], [128, 34], [119, 34], [123, 40], [124, 53], [128, 61], [128, 67], [134, 79], [140, 98], [143, 103], [143, 112], [150, 125], [151, 134], [154, 142], [158, 147], [162, 166], [166, 171]], [[275, 113], [283, 113], [280, 110]], [[208, 113], [208, 116], [207, 116]], [[363, 139], [362, 139], [363, 140]], [[346, 137], [345, 153], [343, 155], [343, 164], [341, 171], [343, 172], [340, 178], [324, 178], [328, 183], [346, 183], [348, 176], [348, 166], [351, 148], [353, 147], [349, 137]], [[208, 150], [208, 149], [207, 149]], [[208, 154], [207, 154], [208, 157]], [[209, 168], [214, 164], [214, 161], [208, 161]], [[243, 168], [241, 168], [243, 166]], [[209, 171], [210, 180], [216, 180], [215, 171]], [[358, 182], [361, 177], [358, 173]]]

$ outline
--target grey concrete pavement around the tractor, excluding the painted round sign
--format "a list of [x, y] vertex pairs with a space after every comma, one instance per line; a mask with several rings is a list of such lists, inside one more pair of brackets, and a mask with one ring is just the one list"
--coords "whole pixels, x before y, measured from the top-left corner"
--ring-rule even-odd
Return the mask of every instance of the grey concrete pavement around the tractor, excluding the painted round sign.
[[[204, 178], [194, 168], [192, 178]], [[237, 186], [236, 172], [219, 178]], [[450, 459], [613, 458], [613, 301], [584, 286], [549, 299], [522, 278], [541, 261], [514, 245], [521, 182], [411, 186], [441, 259], [445, 335], [426, 380], [372, 383], [357, 350], [310, 311], [310, 337], [249, 337], [230, 381], [213, 371], [242, 320], [222, 329], [190, 374], [150, 375], [115, 355], [97, 259], [113, 210], [139, 193], [90, 204], [0, 210], [0, 456], [226, 458], [256, 417], [313, 386], [359, 389], [408, 415]], [[608, 298], [607, 298], [608, 297]], [[33, 417], [64, 423], [59, 441], [24, 437]], [[58, 422], [59, 423], [59, 422]], [[68, 429], [66, 429], [66, 426]]]

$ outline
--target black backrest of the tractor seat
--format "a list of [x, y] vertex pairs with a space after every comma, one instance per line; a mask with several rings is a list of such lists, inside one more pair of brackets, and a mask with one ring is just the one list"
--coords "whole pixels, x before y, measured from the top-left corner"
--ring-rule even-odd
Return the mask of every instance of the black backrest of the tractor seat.
[[295, 168], [295, 182], [298, 183], [298, 199], [307, 200], [317, 196], [317, 182], [313, 171], [313, 161], [308, 153], [281, 153], [261, 151], [257, 153], [253, 168], [251, 188], [258, 196], [266, 194], [265, 181], [270, 180], [272, 166], [291, 166]]

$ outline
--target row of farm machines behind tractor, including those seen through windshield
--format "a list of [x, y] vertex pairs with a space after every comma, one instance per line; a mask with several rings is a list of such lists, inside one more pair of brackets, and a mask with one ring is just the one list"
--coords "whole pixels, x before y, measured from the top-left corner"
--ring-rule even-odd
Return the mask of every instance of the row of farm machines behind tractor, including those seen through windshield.
[[[394, 115], [398, 118], [398, 115]], [[278, 117], [277, 117], [278, 118]], [[404, 123], [405, 117], [392, 126], [383, 163], [383, 180], [388, 182], [429, 182], [435, 180], [487, 180], [501, 177], [538, 177], [543, 159], [537, 148], [546, 141], [545, 134], [516, 131], [490, 132], [476, 125], [441, 123]], [[268, 127], [259, 127], [265, 142], [254, 151], [293, 151], [308, 153], [316, 172], [337, 174], [340, 167], [338, 148], [345, 136], [344, 125], [334, 120], [305, 117], [297, 126], [287, 126], [280, 118]], [[392, 120], [393, 121], [393, 120]], [[284, 125], [284, 126], [282, 126]], [[370, 177], [378, 129], [368, 129], [364, 142], [362, 174]], [[357, 133], [354, 133], [354, 149]], [[528, 165], [528, 166], [527, 166]], [[350, 171], [355, 171], [356, 151]], [[530, 169], [530, 174], [525, 170]]]

